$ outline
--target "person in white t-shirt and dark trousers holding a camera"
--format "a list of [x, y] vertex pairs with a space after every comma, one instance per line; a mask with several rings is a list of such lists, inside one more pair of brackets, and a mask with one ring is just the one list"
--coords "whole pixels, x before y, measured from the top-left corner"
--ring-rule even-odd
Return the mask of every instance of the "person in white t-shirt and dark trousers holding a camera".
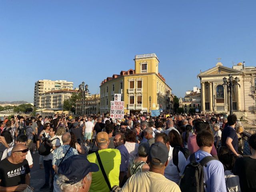
[[50, 138], [44, 142], [51, 148], [50, 154], [44, 156], [44, 173], [45, 173], [45, 183], [44, 185], [40, 188], [40, 190], [45, 190], [46, 188], [49, 187], [49, 180], [50, 180], [50, 172], [52, 174], [52, 179], [51, 179], [51, 187], [50, 191], [53, 191], [53, 181], [54, 181], [54, 170], [52, 168], [52, 158], [53, 158], [53, 152], [56, 148], [60, 146], [60, 140], [57, 138], [55, 135], [57, 131], [57, 128], [51, 127], [49, 130], [49, 135]]

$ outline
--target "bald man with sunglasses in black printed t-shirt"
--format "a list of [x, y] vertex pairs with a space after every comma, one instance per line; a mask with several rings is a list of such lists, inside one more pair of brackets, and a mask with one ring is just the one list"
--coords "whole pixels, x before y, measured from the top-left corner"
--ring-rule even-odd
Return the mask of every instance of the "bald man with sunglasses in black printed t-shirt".
[[24, 191], [30, 185], [26, 154], [26, 145], [17, 144], [12, 148], [11, 155], [0, 161], [0, 191]]

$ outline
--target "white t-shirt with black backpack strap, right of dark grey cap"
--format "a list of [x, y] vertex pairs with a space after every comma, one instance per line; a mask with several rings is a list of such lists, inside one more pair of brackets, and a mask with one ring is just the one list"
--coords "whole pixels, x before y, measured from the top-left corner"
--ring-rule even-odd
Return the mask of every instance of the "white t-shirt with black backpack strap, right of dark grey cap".
[[178, 153], [178, 159], [179, 159], [178, 168], [180, 170], [180, 173], [179, 173], [177, 166], [174, 165], [172, 160], [172, 151], [173, 151], [173, 147], [170, 146], [169, 155], [168, 155], [169, 162], [168, 162], [168, 166], [166, 166], [164, 170], [164, 176], [175, 183], [179, 183], [180, 177], [183, 175], [184, 169], [187, 165], [187, 160], [184, 154], [181, 151], [179, 151]]

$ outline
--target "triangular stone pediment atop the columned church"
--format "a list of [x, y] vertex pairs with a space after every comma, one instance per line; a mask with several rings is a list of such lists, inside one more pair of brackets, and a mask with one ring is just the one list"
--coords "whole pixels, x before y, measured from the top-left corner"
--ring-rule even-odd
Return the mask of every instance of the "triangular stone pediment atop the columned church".
[[214, 68], [211, 68], [209, 70], [201, 72], [200, 74], [198, 74], [198, 77], [212, 76], [212, 75], [223, 75], [223, 74], [242, 74], [242, 71], [232, 69], [229, 67], [225, 67], [225, 66], [215, 66]]

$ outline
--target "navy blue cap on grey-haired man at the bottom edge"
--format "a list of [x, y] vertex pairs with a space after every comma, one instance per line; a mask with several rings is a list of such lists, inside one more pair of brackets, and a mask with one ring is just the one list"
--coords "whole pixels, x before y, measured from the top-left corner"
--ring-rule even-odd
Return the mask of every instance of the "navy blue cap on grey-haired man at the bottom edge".
[[60, 164], [58, 173], [65, 175], [69, 180], [68, 184], [75, 184], [81, 181], [89, 172], [97, 172], [99, 167], [95, 163], [90, 163], [86, 156], [73, 155]]

